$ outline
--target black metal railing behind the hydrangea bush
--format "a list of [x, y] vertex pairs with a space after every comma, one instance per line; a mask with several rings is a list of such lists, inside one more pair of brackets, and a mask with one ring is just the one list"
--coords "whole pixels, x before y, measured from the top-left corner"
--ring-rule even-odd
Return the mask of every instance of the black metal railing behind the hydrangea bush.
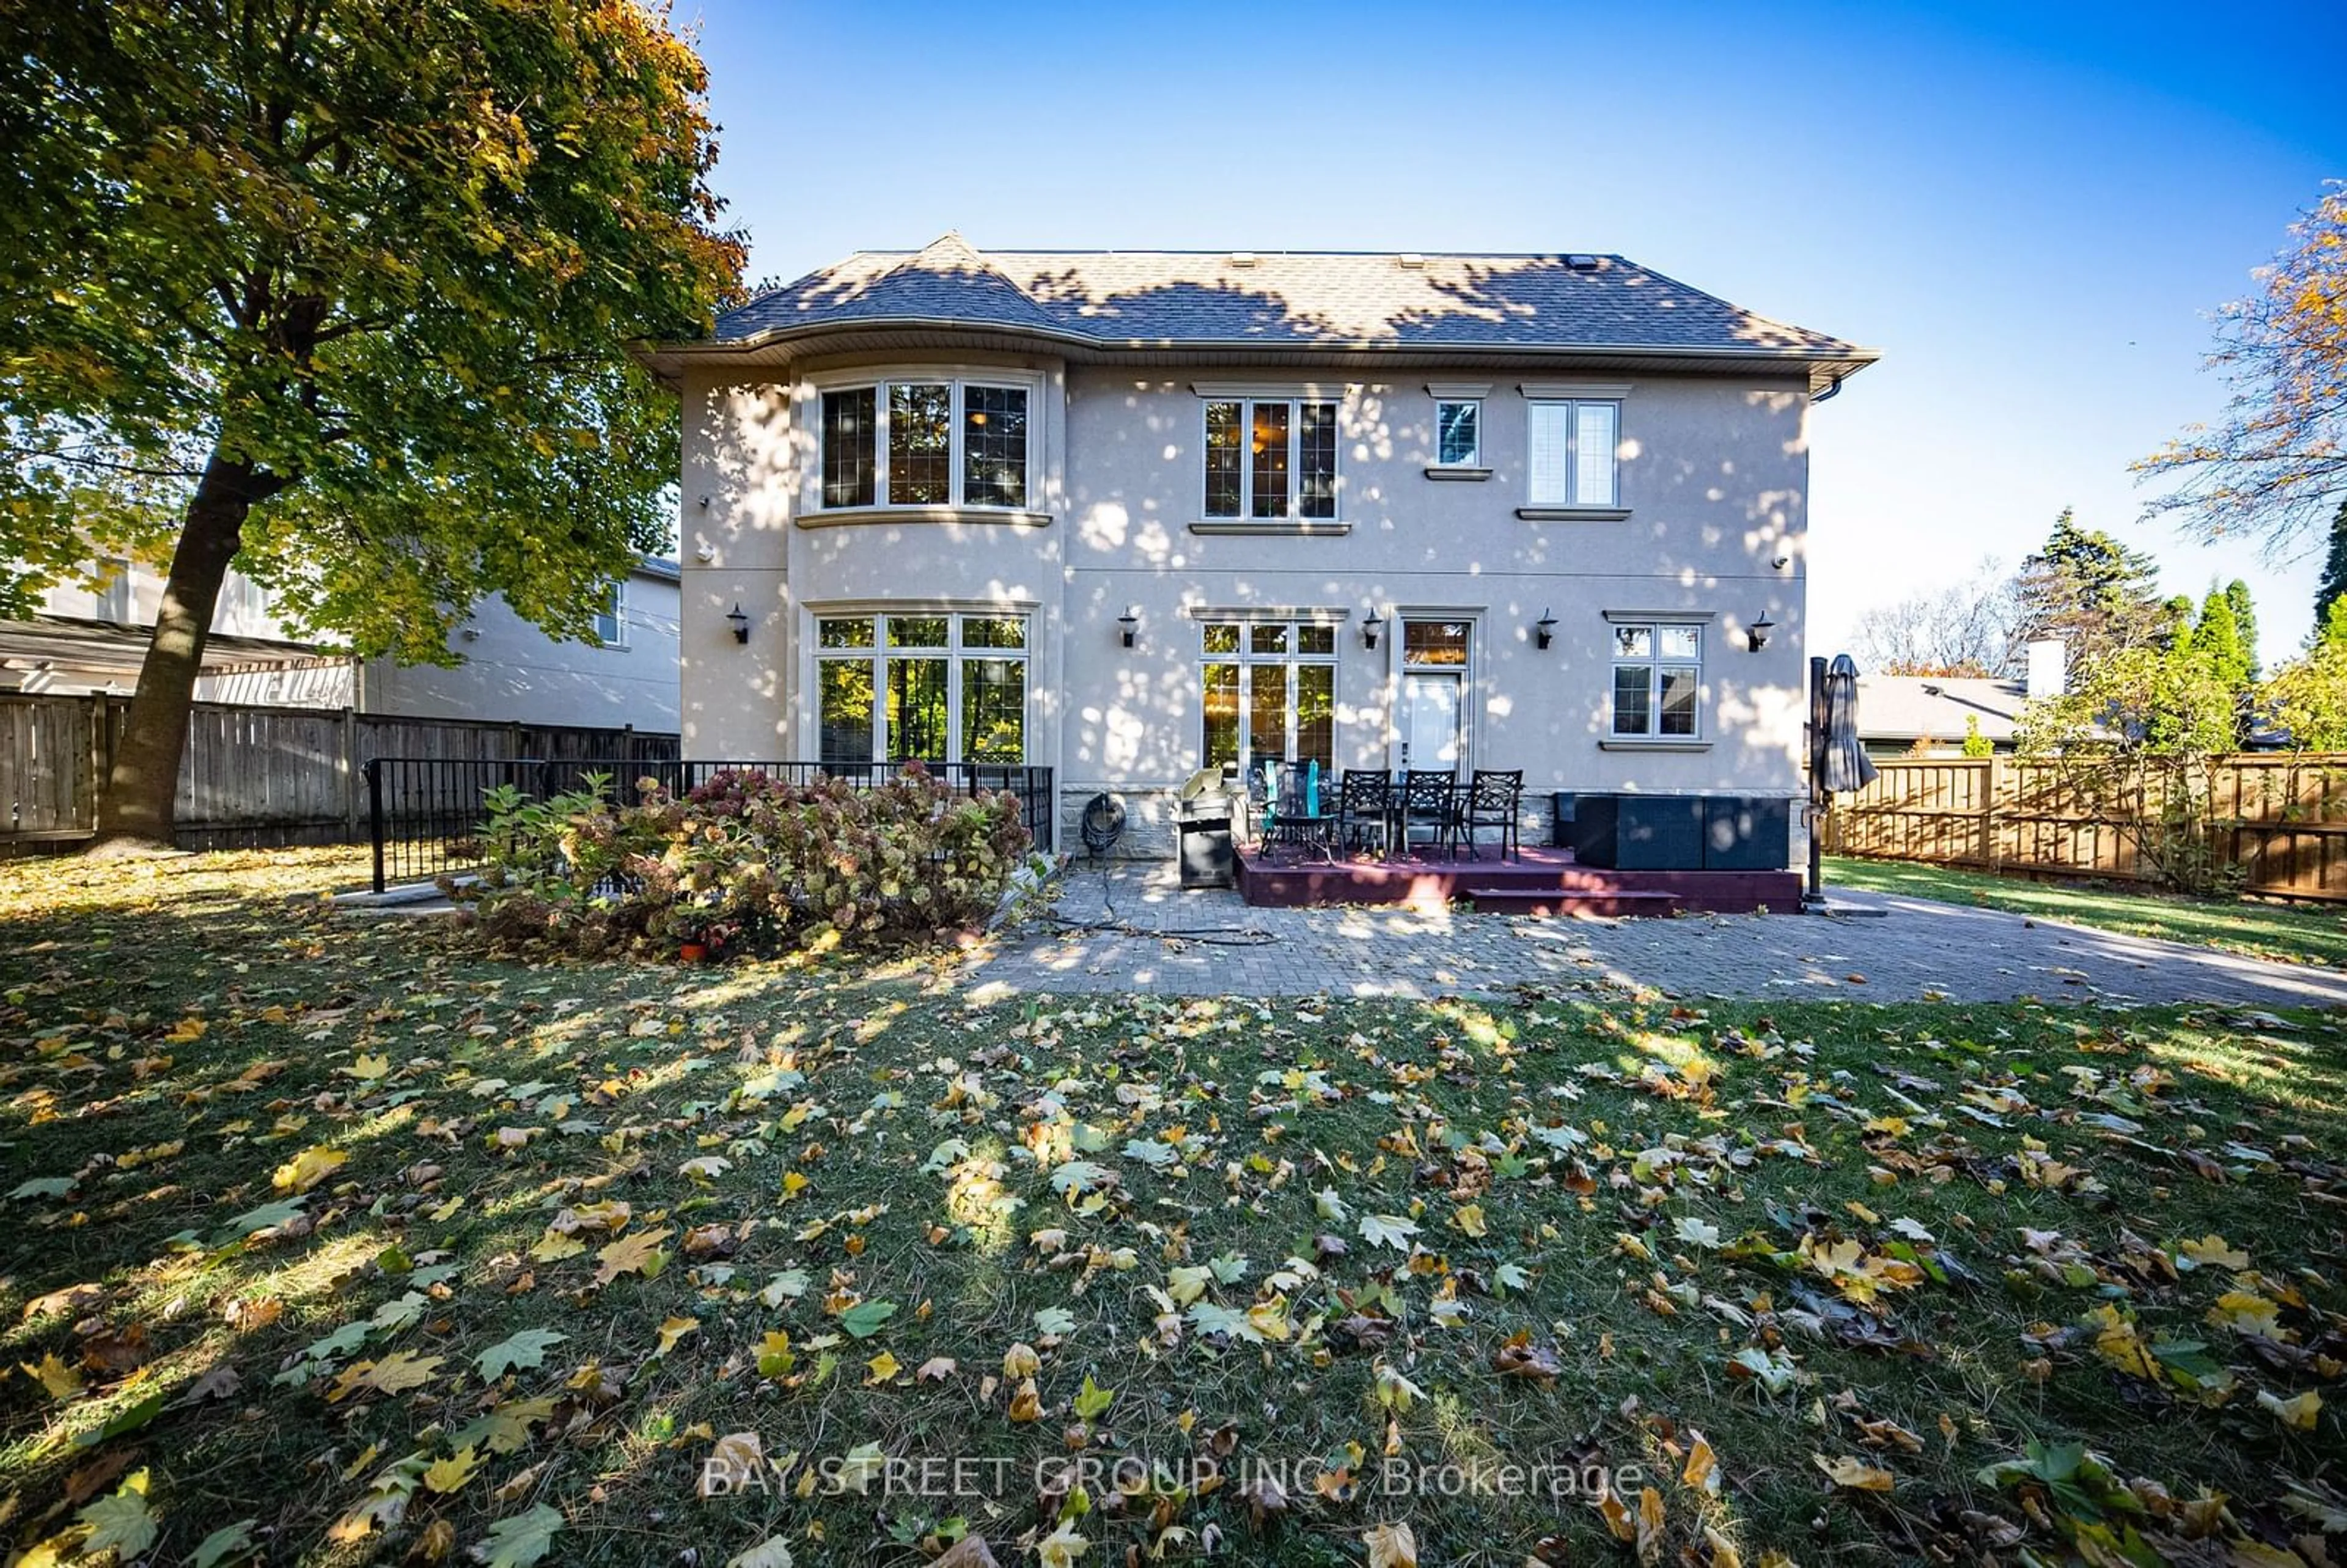
[[[1021, 819], [1037, 850], [1049, 850], [1056, 803], [1049, 768], [1014, 763], [920, 763], [958, 793], [1019, 796]], [[617, 761], [617, 758], [437, 758], [378, 756], [366, 763], [366, 822], [376, 852], [376, 892], [392, 883], [427, 883], [481, 864], [483, 798], [512, 786], [528, 800], [570, 793], [587, 777], [610, 775], [610, 796], [636, 800], [641, 779], [657, 779], [681, 796], [718, 772], [758, 772], [791, 784], [847, 779], [861, 789], [885, 784], [906, 763], [725, 763], [725, 761]]]

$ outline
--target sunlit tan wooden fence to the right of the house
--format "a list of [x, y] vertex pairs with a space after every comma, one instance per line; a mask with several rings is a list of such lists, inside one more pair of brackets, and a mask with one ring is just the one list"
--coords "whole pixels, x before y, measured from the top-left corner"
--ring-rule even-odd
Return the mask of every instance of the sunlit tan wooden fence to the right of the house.
[[[1831, 854], [1939, 866], [2157, 880], [2136, 824], [2157, 822], [2159, 779], [2086, 784], [2079, 763], [2009, 756], [1878, 763], [1826, 817]], [[2209, 765], [2213, 850], [2248, 892], [2347, 901], [2347, 753], [2274, 751]]]

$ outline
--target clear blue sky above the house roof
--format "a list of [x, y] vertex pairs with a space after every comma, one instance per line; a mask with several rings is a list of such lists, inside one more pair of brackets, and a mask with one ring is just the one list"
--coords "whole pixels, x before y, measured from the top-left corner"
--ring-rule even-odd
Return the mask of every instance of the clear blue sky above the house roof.
[[678, 0], [751, 277], [983, 246], [1619, 251], [1882, 350], [1812, 420], [1812, 648], [2056, 512], [2169, 592], [2314, 561], [2140, 523], [2209, 319], [2347, 176], [2347, 5]]

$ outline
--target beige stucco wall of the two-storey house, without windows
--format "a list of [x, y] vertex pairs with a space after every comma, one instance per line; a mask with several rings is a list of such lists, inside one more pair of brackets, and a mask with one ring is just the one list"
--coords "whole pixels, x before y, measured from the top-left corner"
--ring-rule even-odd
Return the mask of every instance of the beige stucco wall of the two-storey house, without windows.
[[[1526, 399], [1493, 371], [1359, 380], [1335, 373], [1136, 373], [1005, 361], [1047, 378], [1037, 413], [1049, 526], [873, 521], [798, 526], [812, 451], [810, 383], [690, 378], [683, 462], [683, 730], [688, 756], [812, 756], [798, 695], [824, 606], [981, 606], [1035, 617], [1030, 761], [1068, 800], [1117, 789], [1143, 840], [1159, 791], [1199, 765], [1199, 610], [1296, 608], [1342, 617], [1338, 765], [1394, 765], [1399, 622], [1474, 622], [1467, 765], [1523, 768], [1528, 796], [1575, 789], [1800, 791], [1805, 718], [1802, 383], [1617, 376], [1622, 521], [1526, 521]], [[843, 366], [819, 366], [833, 371]], [[892, 366], [915, 369], [915, 366]], [[920, 369], [939, 369], [922, 364]], [[1202, 397], [1195, 385], [1314, 380], [1342, 399], [1347, 533], [1199, 533]], [[1542, 371], [1537, 380], [1598, 380]], [[1427, 385], [1488, 383], [1486, 481], [1425, 474]], [[1063, 392], [1061, 392], [1063, 390]], [[706, 498], [706, 505], [702, 502]], [[1777, 566], [1777, 561], [1784, 566]], [[749, 646], [725, 627], [753, 617]], [[1138, 646], [1117, 617], [1136, 606]], [[1375, 608], [1378, 650], [1361, 638]], [[1612, 746], [1605, 613], [1709, 613], [1699, 749]], [[1554, 646], [1533, 622], [1556, 617]], [[1777, 629], [1763, 653], [1746, 627]]]

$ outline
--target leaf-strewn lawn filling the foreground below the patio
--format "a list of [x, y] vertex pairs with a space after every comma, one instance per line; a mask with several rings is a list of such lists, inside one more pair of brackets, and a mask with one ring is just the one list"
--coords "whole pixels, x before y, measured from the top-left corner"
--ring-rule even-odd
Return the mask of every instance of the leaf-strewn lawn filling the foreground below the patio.
[[[336, 876], [0, 866], [28, 1561], [2293, 1563], [2347, 1519], [2331, 1019], [523, 965], [284, 897]], [[721, 1453], [763, 1483], [697, 1498]]]

